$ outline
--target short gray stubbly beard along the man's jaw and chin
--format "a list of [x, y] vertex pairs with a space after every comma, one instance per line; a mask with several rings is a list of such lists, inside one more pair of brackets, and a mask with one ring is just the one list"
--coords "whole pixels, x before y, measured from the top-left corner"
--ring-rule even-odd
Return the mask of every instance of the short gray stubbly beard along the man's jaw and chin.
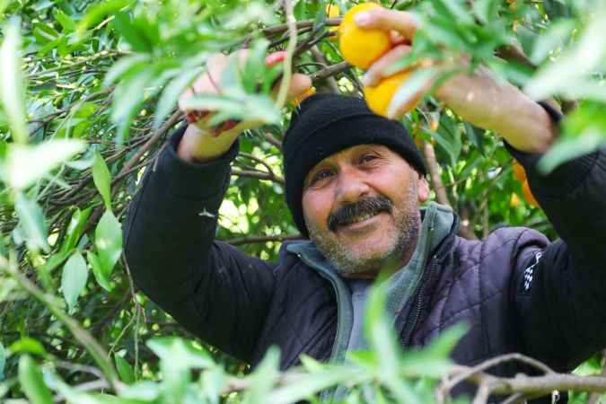
[[310, 240], [341, 277], [360, 277], [362, 274], [367, 277], [367, 274], [378, 274], [383, 269], [393, 268], [406, 257], [410, 257], [416, 248], [421, 225], [416, 186], [408, 189], [407, 206], [400, 211], [394, 208], [391, 215], [396, 221], [396, 233], [390, 245], [382, 253], [367, 257], [356, 257], [348, 245], [330, 237], [330, 234], [327, 234], [329, 231], [322, 231], [310, 225], [307, 220], [305, 223]]

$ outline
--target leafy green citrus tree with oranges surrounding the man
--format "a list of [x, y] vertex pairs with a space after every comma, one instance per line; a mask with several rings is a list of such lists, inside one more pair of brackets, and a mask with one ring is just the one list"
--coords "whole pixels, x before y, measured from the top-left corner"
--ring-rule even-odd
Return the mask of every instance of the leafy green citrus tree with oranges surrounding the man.
[[[287, 403], [338, 384], [347, 384], [347, 402], [448, 400], [453, 386], [440, 381], [465, 374], [447, 359], [462, 330], [404, 356], [382, 317], [380, 288], [367, 309], [373, 350], [352, 356], [354, 365], [304, 358], [303, 367], [280, 373], [279, 353], [269, 351], [249, 374], [139, 293], [121, 255], [128, 203], [167, 136], [185, 124], [180, 93], [208, 57], [240, 48], [250, 49], [247, 65], [227, 69], [222, 93], [189, 101], [216, 111], [216, 122], [263, 122], [242, 136], [217, 238], [274, 259], [280, 242], [298, 237], [283, 198], [281, 139], [296, 103], [285, 89], [298, 71], [317, 92], [364, 95], [363, 71], [344, 60], [337, 38], [356, 3], [0, 0], [0, 400]], [[470, 69], [487, 66], [565, 112], [542, 170], [593, 151], [606, 141], [606, 2], [381, 4], [422, 22], [412, 51], [392, 66], [405, 77], [373, 100], [384, 111], [391, 101], [414, 105], [402, 122], [426, 157], [433, 199], [461, 215], [466, 238], [502, 225], [557, 237], [499, 137], [431, 92], [418, 102], [414, 94], [457, 73], [422, 61], [467, 57]], [[266, 66], [277, 50], [283, 62]], [[578, 370], [601, 372], [602, 356]], [[606, 391], [601, 382], [579, 385]], [[500, 392], [515, 394], [508, 386]]]

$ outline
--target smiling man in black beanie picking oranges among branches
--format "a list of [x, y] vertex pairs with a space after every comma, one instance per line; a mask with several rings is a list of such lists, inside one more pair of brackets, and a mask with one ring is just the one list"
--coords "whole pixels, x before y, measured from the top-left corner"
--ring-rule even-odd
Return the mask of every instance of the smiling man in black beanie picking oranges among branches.
[[[414, 31], [407, 13], [387, 10], [359, 23]], [[365, 80], [375, 83], [402, 51], [376, 62]], [[222, 64], [218, 57], [210, 74]], [[192, 92], [213, 91], [214, 82], [205, 75]], [[295, 76], [292, 91], [306, 85]], [[359, 99], [319, 94], [303, 101], [284, 141], [286, 200], [309, 240], [285, 243], [277, 262], [215, 242], [236, 139], [250, 123], [190, 125], [171, 137], [130, 208], [125, 253], [137, 285], [191, 332], [253, 366], [269, 346], [280, 347], [285, 369], [302, 354], [343, 361], [364, 348], [365, 292], [384, 273], [386, 311], [402, 346], [423, 346], [466, 321], [457, 363], [521, 352], [570, 370], [606, 346], [606, 156], [588, 154], [541, 176], [536, 162], [558, 112], [485, 70], [454, 77], [436, 97], [504, 137], [561, 240], [526, 228], [502, 228], [482, 242], [459, 238], [452, 211], [419, 209], [426, 170], [404, 127]], [[492, 372], [521, 370], [507, 363]]]

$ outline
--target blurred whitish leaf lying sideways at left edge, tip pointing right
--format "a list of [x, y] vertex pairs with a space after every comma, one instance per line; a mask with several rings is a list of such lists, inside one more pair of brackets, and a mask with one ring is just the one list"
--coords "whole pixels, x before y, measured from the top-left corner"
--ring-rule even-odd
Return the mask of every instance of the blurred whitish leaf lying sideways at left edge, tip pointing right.
[[81, 153], [82, 140], [53, 139], [40, 145], [9, 145], [6, 154], [6, 181], [14, 189], [26, 189], [61, 162]]

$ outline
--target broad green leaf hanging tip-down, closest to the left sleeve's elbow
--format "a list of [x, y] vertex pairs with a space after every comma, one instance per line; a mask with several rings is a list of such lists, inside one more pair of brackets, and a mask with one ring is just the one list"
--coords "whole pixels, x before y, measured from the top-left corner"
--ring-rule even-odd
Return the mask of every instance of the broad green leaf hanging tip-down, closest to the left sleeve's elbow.
[[122, 227], [110, 210], [105, 211], [97, 224], [94, 243], [103, 274], [106, 279], [110, 279], [122, 253]]

